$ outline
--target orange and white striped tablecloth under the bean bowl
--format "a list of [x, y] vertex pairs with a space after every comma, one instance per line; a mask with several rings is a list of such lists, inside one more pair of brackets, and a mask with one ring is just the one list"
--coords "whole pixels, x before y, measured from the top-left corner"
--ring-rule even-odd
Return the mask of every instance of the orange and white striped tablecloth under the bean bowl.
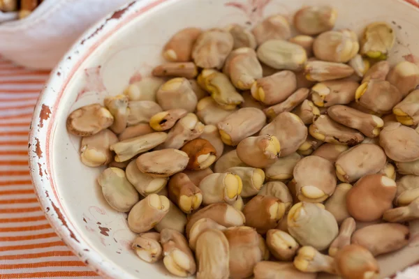
[[55, 234], [29, 176], [29, 123], [47, 77], [0, 57], [0, 278], [101, 278]]

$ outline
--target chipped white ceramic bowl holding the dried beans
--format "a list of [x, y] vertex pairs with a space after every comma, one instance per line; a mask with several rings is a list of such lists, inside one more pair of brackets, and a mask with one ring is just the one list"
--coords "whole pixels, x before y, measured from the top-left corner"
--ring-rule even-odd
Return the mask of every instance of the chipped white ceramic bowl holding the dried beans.
[[[38, 100], [29, 146], [39, 200], [68, 246], [106, 278], [171, 278], [161, 264], [146, 264], [131, 251], [134, 234], [126, 225], [126, 214], [112, 210], [96, 184], [101, 169], [80, 163], [80, 139], [66, 131], [69, 112], [101, 103], [105, 96], [121, 93], [129, 82], [149, 75], [162, 61], [164, 43], [179, 29], [230, 23], [251, 27], [268, 15], [291, 17], [301, 6], [330, 3], [339, 11], [337, 29], [360, 33], [372, 21], [392, 24], [397, 33], [392, 63], [419, 56], [419, 9], [402, 0], [142, 0], [84, 33], [52, 72]], [[411, 244], [380, 258], [383, 277], [418, 262], [418, 226], [411, 226]]]

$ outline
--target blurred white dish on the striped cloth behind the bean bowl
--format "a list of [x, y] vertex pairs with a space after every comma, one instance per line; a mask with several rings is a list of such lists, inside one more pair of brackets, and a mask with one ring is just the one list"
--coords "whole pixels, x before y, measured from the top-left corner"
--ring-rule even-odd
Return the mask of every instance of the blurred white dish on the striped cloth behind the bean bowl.
[[21, 66], [50, 70], [91, 24], [128, 1], [44, 0], [28, 17], [0, 24], [0, 54]]

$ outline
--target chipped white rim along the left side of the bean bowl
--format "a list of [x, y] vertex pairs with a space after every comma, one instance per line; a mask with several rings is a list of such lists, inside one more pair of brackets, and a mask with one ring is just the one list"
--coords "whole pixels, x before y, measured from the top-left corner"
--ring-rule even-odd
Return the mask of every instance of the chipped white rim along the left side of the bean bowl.
[[68, 248], [103, 278], [134, 279], [138, 277], [129, 275], [114, 262], [106, 261], [101, 252], [94, 250], [88, 241], [83, 239], [82, 234], [75, 229], [71, 218], [66, 214], [50, 172], [50, 164], [52, 164], [50, 137], [57, 125], [54, 123], [55, 115], [68, 82], [80, 70], [83, 61], [103, 41], [110, 38], [120, 27], [128, 24], [134, 18], [148, 13], [158, 6], [162, 8], [165, 3], [173, 1], [180, 0], [135, 0], [126, 3], [85, 31], [51, 71], [50, 77], [38, 97], [31, 119], [28, 145], [29, 172], [41, 208], [54, 231]]

